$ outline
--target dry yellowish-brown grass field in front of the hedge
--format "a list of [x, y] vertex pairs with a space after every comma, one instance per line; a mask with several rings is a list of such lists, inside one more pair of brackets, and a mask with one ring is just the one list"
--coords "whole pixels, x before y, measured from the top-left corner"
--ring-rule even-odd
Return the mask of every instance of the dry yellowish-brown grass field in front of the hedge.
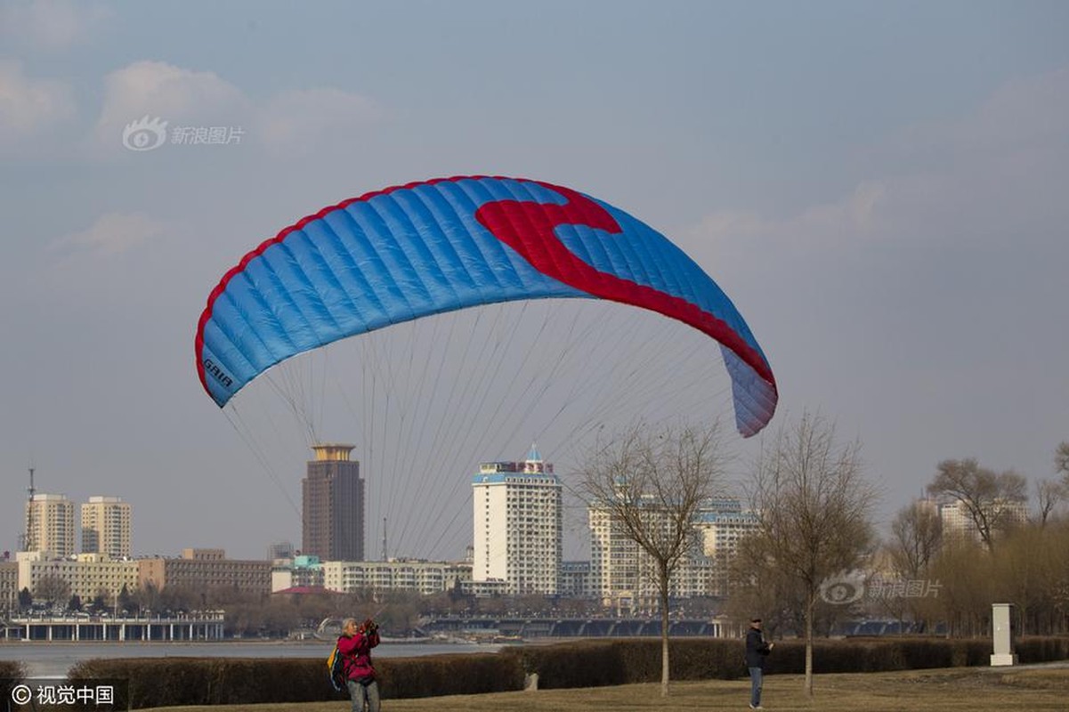
[[[969, 712], [1069, 711], [1069, 668], [947, 668], [899, 672], [817, 676], [814, 698], [806, 699], [803, 677], [765, 678], [762, 705], [768, 710], [821, 712]], [[749, 682], [675, 682], [671, 695], [661, 697], [660, 684], [541, 690], [494, 695], [458, 695], [422, 699], [383, 700], [384, 712], [633, 712], [659, 710], [748, 709]], [[350, 705], [255, 705], [160, 708], [183, 712], [348, 712]]]

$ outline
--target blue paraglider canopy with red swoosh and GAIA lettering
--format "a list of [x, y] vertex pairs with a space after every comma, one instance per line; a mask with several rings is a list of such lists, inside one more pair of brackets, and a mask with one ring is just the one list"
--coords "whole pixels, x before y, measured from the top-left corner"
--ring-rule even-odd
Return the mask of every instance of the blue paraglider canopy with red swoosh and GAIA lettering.
[[221, 407], [272, 366], [431, 314], [540, 298], [608, 299], [719, 343], [737, 427], [775, 412], [772, 369], [719, 287], [668, 238], [562, 186], [458, 176], [326, 207], [246, 254], [197, 328], [201, 384]]

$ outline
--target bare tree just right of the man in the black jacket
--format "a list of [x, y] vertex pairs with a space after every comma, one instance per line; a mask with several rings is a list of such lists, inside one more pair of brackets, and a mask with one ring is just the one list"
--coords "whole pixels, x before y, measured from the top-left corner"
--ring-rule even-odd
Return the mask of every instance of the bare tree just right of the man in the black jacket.
[[808, 413], [762, 444], [752, 484], [760, 520], [750, 547], [760, 558], [752, 566], [778, 569], [804, 595], [805, 691], [812, 696], [818, 595], [870, 551], [877, 491], [865, 479], [859, 443], [838, 445], [835, 425]]

